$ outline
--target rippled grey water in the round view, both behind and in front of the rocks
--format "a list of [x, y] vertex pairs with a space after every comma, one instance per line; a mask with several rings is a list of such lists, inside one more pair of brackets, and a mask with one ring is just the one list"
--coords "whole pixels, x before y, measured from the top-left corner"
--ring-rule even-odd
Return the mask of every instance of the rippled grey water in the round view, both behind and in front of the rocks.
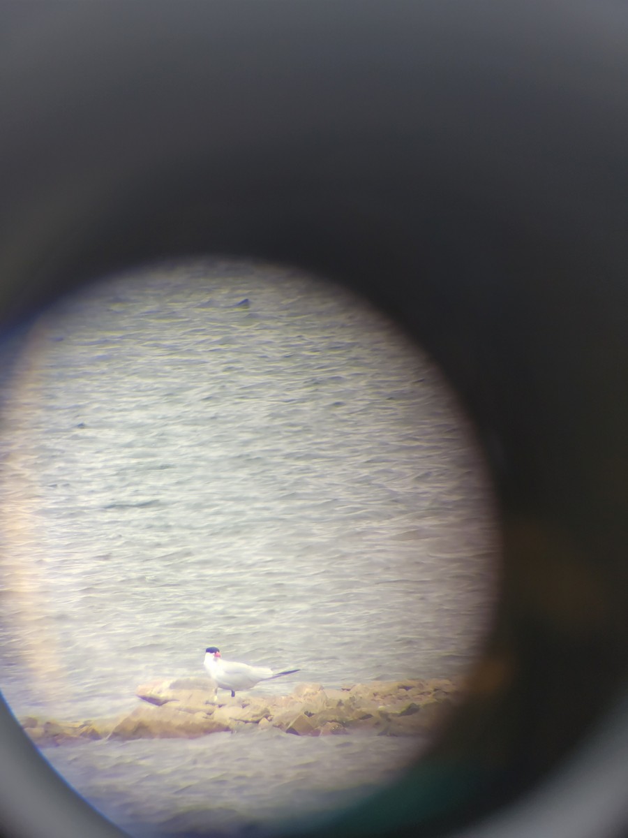
[[[276, 266], [154, 266], [10, 351], [0, 686], [18, 716], [131, 709], [142, 681], [202, 674], [208, 645], [299, 667], [255, 687], [275, 693], [446, 677], [477, 653], [497, 555], [480, 455], [439, 370], [355, 297]], [[193, 811], [229, 831], [320, 810], [409, 748], [265, 731], [44, 752], [153, 835]]]

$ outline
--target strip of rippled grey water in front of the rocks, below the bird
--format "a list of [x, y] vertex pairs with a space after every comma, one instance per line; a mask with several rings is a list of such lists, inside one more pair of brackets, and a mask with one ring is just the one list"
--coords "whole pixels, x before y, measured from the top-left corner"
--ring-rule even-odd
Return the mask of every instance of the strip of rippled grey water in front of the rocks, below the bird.
[[[46, 748], [59, 773], [138, 838], [275, 835], [392, 781], [417, 742], [279, 730]], [[90, 772], [85, 776], [85, 765]]]

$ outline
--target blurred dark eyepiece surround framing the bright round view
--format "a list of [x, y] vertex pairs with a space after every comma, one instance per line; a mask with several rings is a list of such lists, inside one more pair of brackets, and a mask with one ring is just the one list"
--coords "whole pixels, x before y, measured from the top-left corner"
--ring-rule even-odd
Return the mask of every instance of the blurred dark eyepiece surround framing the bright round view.
[[[344, 825], [442, 833], [569, 771], [628, 660], [625, 6], [47, 2], [0, 15], [5, 328], [148, 259], [293, 261], [398, 318], [476, 422], [502, 506], [496, 629], [389, 819]], [[2, 732], [25, 760], [3, 756], [9, 834], [16, 803], [23, 835], [41, 820], [72, 834], [62, 787], [33, 794], [43, 768]], [[590, 746], [586, 788], [625, 779], [611, 744]], [[552, 829], [592, 834], [569, 818], [584, 799], [546, 799], [564, 815]], [[620, 834], [604, 823], [613, 799], [596, 838]], [[538, 835], [533, 821], [501, 828]]]

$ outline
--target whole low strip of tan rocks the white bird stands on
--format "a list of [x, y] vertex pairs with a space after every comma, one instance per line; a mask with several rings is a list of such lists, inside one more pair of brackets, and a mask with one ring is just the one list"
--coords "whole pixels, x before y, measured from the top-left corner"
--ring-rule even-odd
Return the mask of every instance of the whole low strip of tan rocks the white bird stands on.
[[41, 747], [95, 739], [191, 739], [265, 727], [297, 736], [420, 736], [435, 727], [460, 691], [461, 683], [452, 680], [398, 680], [340, 689], [301, 684], [289, 696], [231, 698], [224, 691], [217, 696], [208, 678], [178, 678], [140, 685], [136, 696], [143, 703], [116, 718], [58, 722], [28, 716], [19, 722]]

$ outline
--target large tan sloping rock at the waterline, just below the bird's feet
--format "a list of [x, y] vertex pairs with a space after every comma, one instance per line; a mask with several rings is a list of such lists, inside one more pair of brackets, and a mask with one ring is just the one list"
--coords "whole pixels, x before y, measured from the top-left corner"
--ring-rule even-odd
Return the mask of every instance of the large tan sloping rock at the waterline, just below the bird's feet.
[[110, 733], [112, 739], [165, 739], [181, 737], [193, 739], [207, 733], [228, 731], [229, 725], [216, 721], [204, 713], [192, 713], [160, 707], [136, 707], [121, 719]]

